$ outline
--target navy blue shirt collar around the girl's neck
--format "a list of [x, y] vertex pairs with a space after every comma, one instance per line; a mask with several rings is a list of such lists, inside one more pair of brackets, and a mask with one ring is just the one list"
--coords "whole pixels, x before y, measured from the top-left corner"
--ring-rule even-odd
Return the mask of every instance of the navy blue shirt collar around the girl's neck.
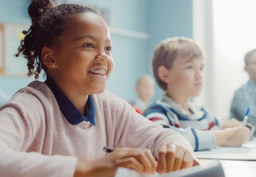
[[75, 108], [75, 105], [67, 98], [67, 96], [59, 89], [59, 86], [54, 82], [52, 78], [48, 75], [45, 83], [48, 87], [53, 91], [54, 96], [59, 104], [59, 108], [61, 112], [64, 114], [67, 121], [69, 121], [72, 125], [80, 124], [82, 121], [89, 121], [91, 124], [95, 126], [95, 119], [94, 119], [94, 100], [92, 99], [91, 95], [88, 97], [88, 101], [86, 103], [86, 107], [88, 109], [88, 115], [83, 116], [80, 111]]

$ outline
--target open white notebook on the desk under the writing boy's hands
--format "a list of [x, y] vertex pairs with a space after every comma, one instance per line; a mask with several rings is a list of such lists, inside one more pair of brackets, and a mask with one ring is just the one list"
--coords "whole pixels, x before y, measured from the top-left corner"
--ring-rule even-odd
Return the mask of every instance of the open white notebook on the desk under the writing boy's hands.
[[256, 161], [256, 141], [248, 141], [241, 147], [217, 147], [209, 151], [196, 151], [198, 159], [225, 159]]

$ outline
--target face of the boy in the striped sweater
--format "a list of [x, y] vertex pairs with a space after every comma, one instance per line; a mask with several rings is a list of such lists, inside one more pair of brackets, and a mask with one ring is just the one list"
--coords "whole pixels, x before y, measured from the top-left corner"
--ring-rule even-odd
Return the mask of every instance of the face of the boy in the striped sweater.
[[167, 70], [167, 94], [170, 97], [197, 97], [203, 86], [203, 58], [177, 57]]

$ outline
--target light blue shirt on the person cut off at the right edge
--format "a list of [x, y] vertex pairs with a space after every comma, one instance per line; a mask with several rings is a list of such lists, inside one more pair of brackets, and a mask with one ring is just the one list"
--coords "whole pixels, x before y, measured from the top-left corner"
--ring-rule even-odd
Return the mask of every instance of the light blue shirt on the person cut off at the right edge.
[[256, 84], [252, 80], [235, 92], [230, 106], [230, 117], [243, 121], [247, 108], [250, 108], [248, 121], [256, 124]]

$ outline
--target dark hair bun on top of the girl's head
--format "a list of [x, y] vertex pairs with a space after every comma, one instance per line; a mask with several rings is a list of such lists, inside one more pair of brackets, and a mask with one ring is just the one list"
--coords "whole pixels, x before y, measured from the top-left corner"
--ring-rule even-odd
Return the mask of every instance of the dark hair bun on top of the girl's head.
[[29, 5], [29, 16], [32, 20], [37, 21], [42, 14], [54, 7], [53, 1], [51, 0], [31, 0], [31, 4]]

